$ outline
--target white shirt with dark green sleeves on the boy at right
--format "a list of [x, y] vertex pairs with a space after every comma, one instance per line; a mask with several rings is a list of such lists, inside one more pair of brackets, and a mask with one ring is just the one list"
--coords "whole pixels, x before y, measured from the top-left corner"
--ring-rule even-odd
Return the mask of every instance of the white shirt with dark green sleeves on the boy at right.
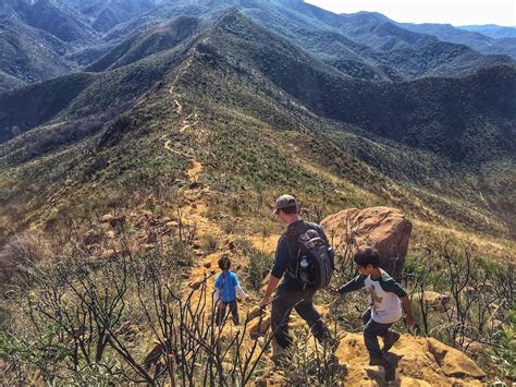
[[402, 303], [400, 299], [407, 295], [407, 291], [389, 274], [380, 269], [379, 278], [359, 275], [343, 285], [340, 293], [366, 288], [371, 305], [371, 318], [380, 324], [392, 324], [402, 318]]

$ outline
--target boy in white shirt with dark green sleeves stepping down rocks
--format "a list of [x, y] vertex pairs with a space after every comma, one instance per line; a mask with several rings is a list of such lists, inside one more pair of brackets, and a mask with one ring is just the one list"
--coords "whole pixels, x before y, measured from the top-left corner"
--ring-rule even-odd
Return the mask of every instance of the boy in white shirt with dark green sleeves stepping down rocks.
[[[354, 257], [360, 273], [337, 291], [341, 294], [366, 288], [370, 306], [363, 314], [364, 341], [369, 352], [369, 365], [381, 365], [385, 368], [385, 380], [394, 380], [395, 368], [384, 354], [400, 340], [400, 334], [390, 329], [391, 325], [402, 318], [402, 303], [405, 321], [414, 325], [414, 316], [407, 291], [389, 274], [382, 270], [378, 251], [372, 247], [360, 249]], [[401, 301], [400, 301], [401, 300]], [[383, 338], [380, 349], [378, 336]]]

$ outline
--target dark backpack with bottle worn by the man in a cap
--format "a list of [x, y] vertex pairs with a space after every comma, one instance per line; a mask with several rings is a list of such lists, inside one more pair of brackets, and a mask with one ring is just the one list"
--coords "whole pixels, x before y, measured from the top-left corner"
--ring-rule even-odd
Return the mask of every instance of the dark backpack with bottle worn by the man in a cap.
[[333, 275], [333, 247], [307, 222], [288, 232], [291, 265], [288, 274], [303, 289], [325, 288]]

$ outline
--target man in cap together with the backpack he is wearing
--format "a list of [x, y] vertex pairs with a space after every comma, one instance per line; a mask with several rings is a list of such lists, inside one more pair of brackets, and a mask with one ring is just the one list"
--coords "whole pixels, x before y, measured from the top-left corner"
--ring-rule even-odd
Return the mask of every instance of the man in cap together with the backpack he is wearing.
[[333, 271], [333, 249], [319, 225], [303, 220], [297, 214], [296, 199], [282, 195], [275, 202], [274, 213], [287, 226], [281, 235], [275, 258], [269, 276], [269, 283], [260, 306], [272, 300], [271, 329], [272, 360], [278, 362], [290, 344], [288, 317], [294, 309], [305, 319], [312, 335], [334, 349], [336, 340], [314, 307], [314, 295], [328, 286]]

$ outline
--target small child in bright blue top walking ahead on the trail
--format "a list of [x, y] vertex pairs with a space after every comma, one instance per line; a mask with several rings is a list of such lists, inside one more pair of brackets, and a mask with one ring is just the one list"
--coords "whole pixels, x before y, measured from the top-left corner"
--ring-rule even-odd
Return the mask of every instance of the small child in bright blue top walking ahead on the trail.
[[230, 312], [233, 317], [233, 323], [239, 325], [238, 306], [236, 303], [236, 295], [238, 294], [244, 300], [247, 295], [241, 288], [236, 274], [230, 271], [231, 259], [228, 255], [223, 255], [219, 259], [219, 267], [222, 273], [217, 277], [214, 285], [214, 300], [217, 302], [217, 325], [221, 326], [225, 321], [225, 310], [230, 306]]

